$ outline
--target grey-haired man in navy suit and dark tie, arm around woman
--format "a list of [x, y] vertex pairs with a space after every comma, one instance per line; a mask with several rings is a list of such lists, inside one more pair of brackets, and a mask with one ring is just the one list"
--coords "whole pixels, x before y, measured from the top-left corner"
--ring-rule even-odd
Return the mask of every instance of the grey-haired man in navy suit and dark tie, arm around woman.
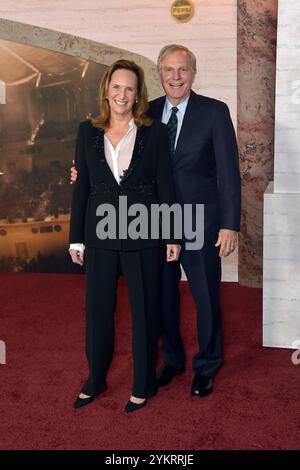
[[158, 72], [166, 96], [150, 103], [150, 115], [167, 124], [173, 153], [177, 202], [204, 204], [204, 245], [183, 247], [180, 262], [165, 263], [162, 286], [162, 354], [159, 386], [185, 371], [180, 334], [180, 263], [197, 305], [199, 350], [191, 394], [208, 395], [223, 362], [220, 316], [221, 259], [237, 245], [240, 228], [241, 183], [234, 128], [225, 103], [192, 91], [194, 54], [184, 46], [164, 47]]

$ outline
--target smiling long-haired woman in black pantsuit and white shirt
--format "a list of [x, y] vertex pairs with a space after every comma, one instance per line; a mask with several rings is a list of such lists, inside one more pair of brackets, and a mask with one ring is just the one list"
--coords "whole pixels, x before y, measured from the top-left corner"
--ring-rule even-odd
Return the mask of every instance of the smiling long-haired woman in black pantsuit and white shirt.
[[[106, 389], [114, 350], [117, 280], [122, 269], [133, 325], [134, 380], [125, 406], [125, 411], [131, 412], [156, 394], [161, 240], [149, 235], [150, 218], [141, 222], [140, 236], [136, 230], [135, 235], [124, 235], [124, 224], [126, 232], [130, 225], [138, 228], [136, 222], [132, 225], [133, 212], [126, 219], [124, 204], [132, 209], [133, 204], [143, 204], [150, 214], [153, 204], [172, 205], [175, 193], [167, 130], [146, 116], [143, 70], [127, 60], [113, 63], [101, 80], [99, 104], [100, 115], [79, 126], [75, 156], [78, 179], [69, 241], [72, 261], [85, 263], [89, 377], [74, 407], [91, 403]], [[116, 216], [112, 224], [107, 218], [110, 209]], [[177, 260], [180, 246], [176, 240], [164, 243], [167, 260]]]

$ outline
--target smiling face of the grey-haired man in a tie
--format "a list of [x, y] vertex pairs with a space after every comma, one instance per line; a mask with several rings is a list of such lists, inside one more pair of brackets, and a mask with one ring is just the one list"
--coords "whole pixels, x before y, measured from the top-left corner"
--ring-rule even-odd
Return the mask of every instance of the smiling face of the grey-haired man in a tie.
[[185, 51], [175, 51], [166, 55], [161, 62], [160, 79], [173, 106], [184, 101], [190, 94], [195, 79], [188, 54]]

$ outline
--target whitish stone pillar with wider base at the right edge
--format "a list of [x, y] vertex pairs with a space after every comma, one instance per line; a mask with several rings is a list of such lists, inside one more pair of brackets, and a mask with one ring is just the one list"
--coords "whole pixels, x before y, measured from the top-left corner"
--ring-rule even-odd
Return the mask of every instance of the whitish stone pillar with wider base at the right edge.
[[300, 348], [300, 4], [279, 0], [274, 184], [264, 198], [263, 344]]

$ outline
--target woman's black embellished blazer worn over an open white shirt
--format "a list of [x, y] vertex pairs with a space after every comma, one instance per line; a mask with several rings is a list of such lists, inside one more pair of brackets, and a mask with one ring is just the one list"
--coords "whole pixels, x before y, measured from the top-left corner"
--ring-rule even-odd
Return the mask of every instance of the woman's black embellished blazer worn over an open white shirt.
[[[167, 129], [159, 121], [137, 129], [132, 159], [120, 185], [116, 182], [104, 155], [104, 132], [90, 121], [79, 126], [75, 165], [78, 178], [74, 185], [69, 242], [110, 250], [140, 250], [159, 246], [155, 239], [125, 239], [118, 236], [119, 196], [127, 196], [128, 207], [144, 204], [150, 214], [151, 204], [175, 202]], [[116, 239], [100, 240], [96, 234], [96, 216], [100, 204], [109, 203], [116, 210]], [[135, 217], [128, 217], [128, 223]], [[150, 221], [149, 221], [150, 233]], [[172, 234], [166, 243], [176, 243]]]

